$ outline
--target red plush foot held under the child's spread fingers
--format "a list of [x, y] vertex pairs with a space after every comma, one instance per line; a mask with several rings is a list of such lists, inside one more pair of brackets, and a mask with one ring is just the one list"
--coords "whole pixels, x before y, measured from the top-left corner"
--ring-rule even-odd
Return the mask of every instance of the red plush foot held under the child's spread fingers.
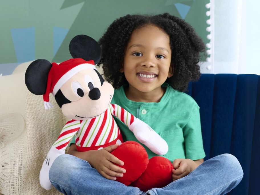
[[126, 186], [131, 184], [145, 171], [149, 162], [147, 152], [144, 147], [135, 141], [126, 141], [111, 152], [115, 157], [124, 162], [124, 165], [118, 165], [126, 170], [123, 177], [117, 177], [119, 181]]

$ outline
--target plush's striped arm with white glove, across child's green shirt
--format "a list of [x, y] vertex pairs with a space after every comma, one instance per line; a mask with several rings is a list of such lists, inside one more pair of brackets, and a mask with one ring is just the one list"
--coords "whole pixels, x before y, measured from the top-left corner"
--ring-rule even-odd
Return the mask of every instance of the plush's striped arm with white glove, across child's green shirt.
[[130, 131], [133, 132], [136, 139], [146, 145], [153, 153], [165, 155], [168, 152], [168, 145], [149, 125], [137, 119], [131, 113], [117, 104], [110, 104], [112, 115], [120, 119]]

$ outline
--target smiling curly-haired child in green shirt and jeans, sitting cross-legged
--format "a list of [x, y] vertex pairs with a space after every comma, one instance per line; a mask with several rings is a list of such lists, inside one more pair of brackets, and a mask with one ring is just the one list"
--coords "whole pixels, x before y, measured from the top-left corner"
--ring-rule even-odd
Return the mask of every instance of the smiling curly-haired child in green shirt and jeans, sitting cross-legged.
[[[204, 43], [184, 20], [169, 14], [127, 15], [115, 20], [99, 43], [105, 79], [116, 89], [116, 103], [150, 125], [168, 143], [174, 169], [172, 183], [142, 192], [117, 181], [127, 171], [111, 152], [118, 145], [98, 151], [58, 157], [49, 178], [64, 194], [225, 194], [243, 177], [237, 159], [224, 154], [204, 162], [199, 106], [183, 93], [200, 76], [198, 66]], [[115, 119], [125, 141], [137, 141]], [[138, 142], [138, 141], [137, 141]], [[145, 147], [149, 158], [155, 156]], [[83, 160], [82, 160], [83, 159]]]

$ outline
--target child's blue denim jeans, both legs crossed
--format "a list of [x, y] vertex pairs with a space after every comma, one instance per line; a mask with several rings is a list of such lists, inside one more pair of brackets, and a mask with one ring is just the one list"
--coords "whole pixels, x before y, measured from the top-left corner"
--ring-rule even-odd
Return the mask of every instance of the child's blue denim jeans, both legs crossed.
[[226, 194], [239, 184], [243, 170], [233, 155], [223, 154], [205, 161], [164, 188], [142, 192], [139, 188], [106, 179], [87, 161], [64, 154], [53, 162], [49, 178], [63, 194]]

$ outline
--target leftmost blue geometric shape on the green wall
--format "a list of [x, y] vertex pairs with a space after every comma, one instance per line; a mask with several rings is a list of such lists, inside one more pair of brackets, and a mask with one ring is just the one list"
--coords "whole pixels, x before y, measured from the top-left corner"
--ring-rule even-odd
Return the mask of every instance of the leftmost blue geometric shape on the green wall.
[[35, 28], [11, 29], [17, 62], [35, 60]]

